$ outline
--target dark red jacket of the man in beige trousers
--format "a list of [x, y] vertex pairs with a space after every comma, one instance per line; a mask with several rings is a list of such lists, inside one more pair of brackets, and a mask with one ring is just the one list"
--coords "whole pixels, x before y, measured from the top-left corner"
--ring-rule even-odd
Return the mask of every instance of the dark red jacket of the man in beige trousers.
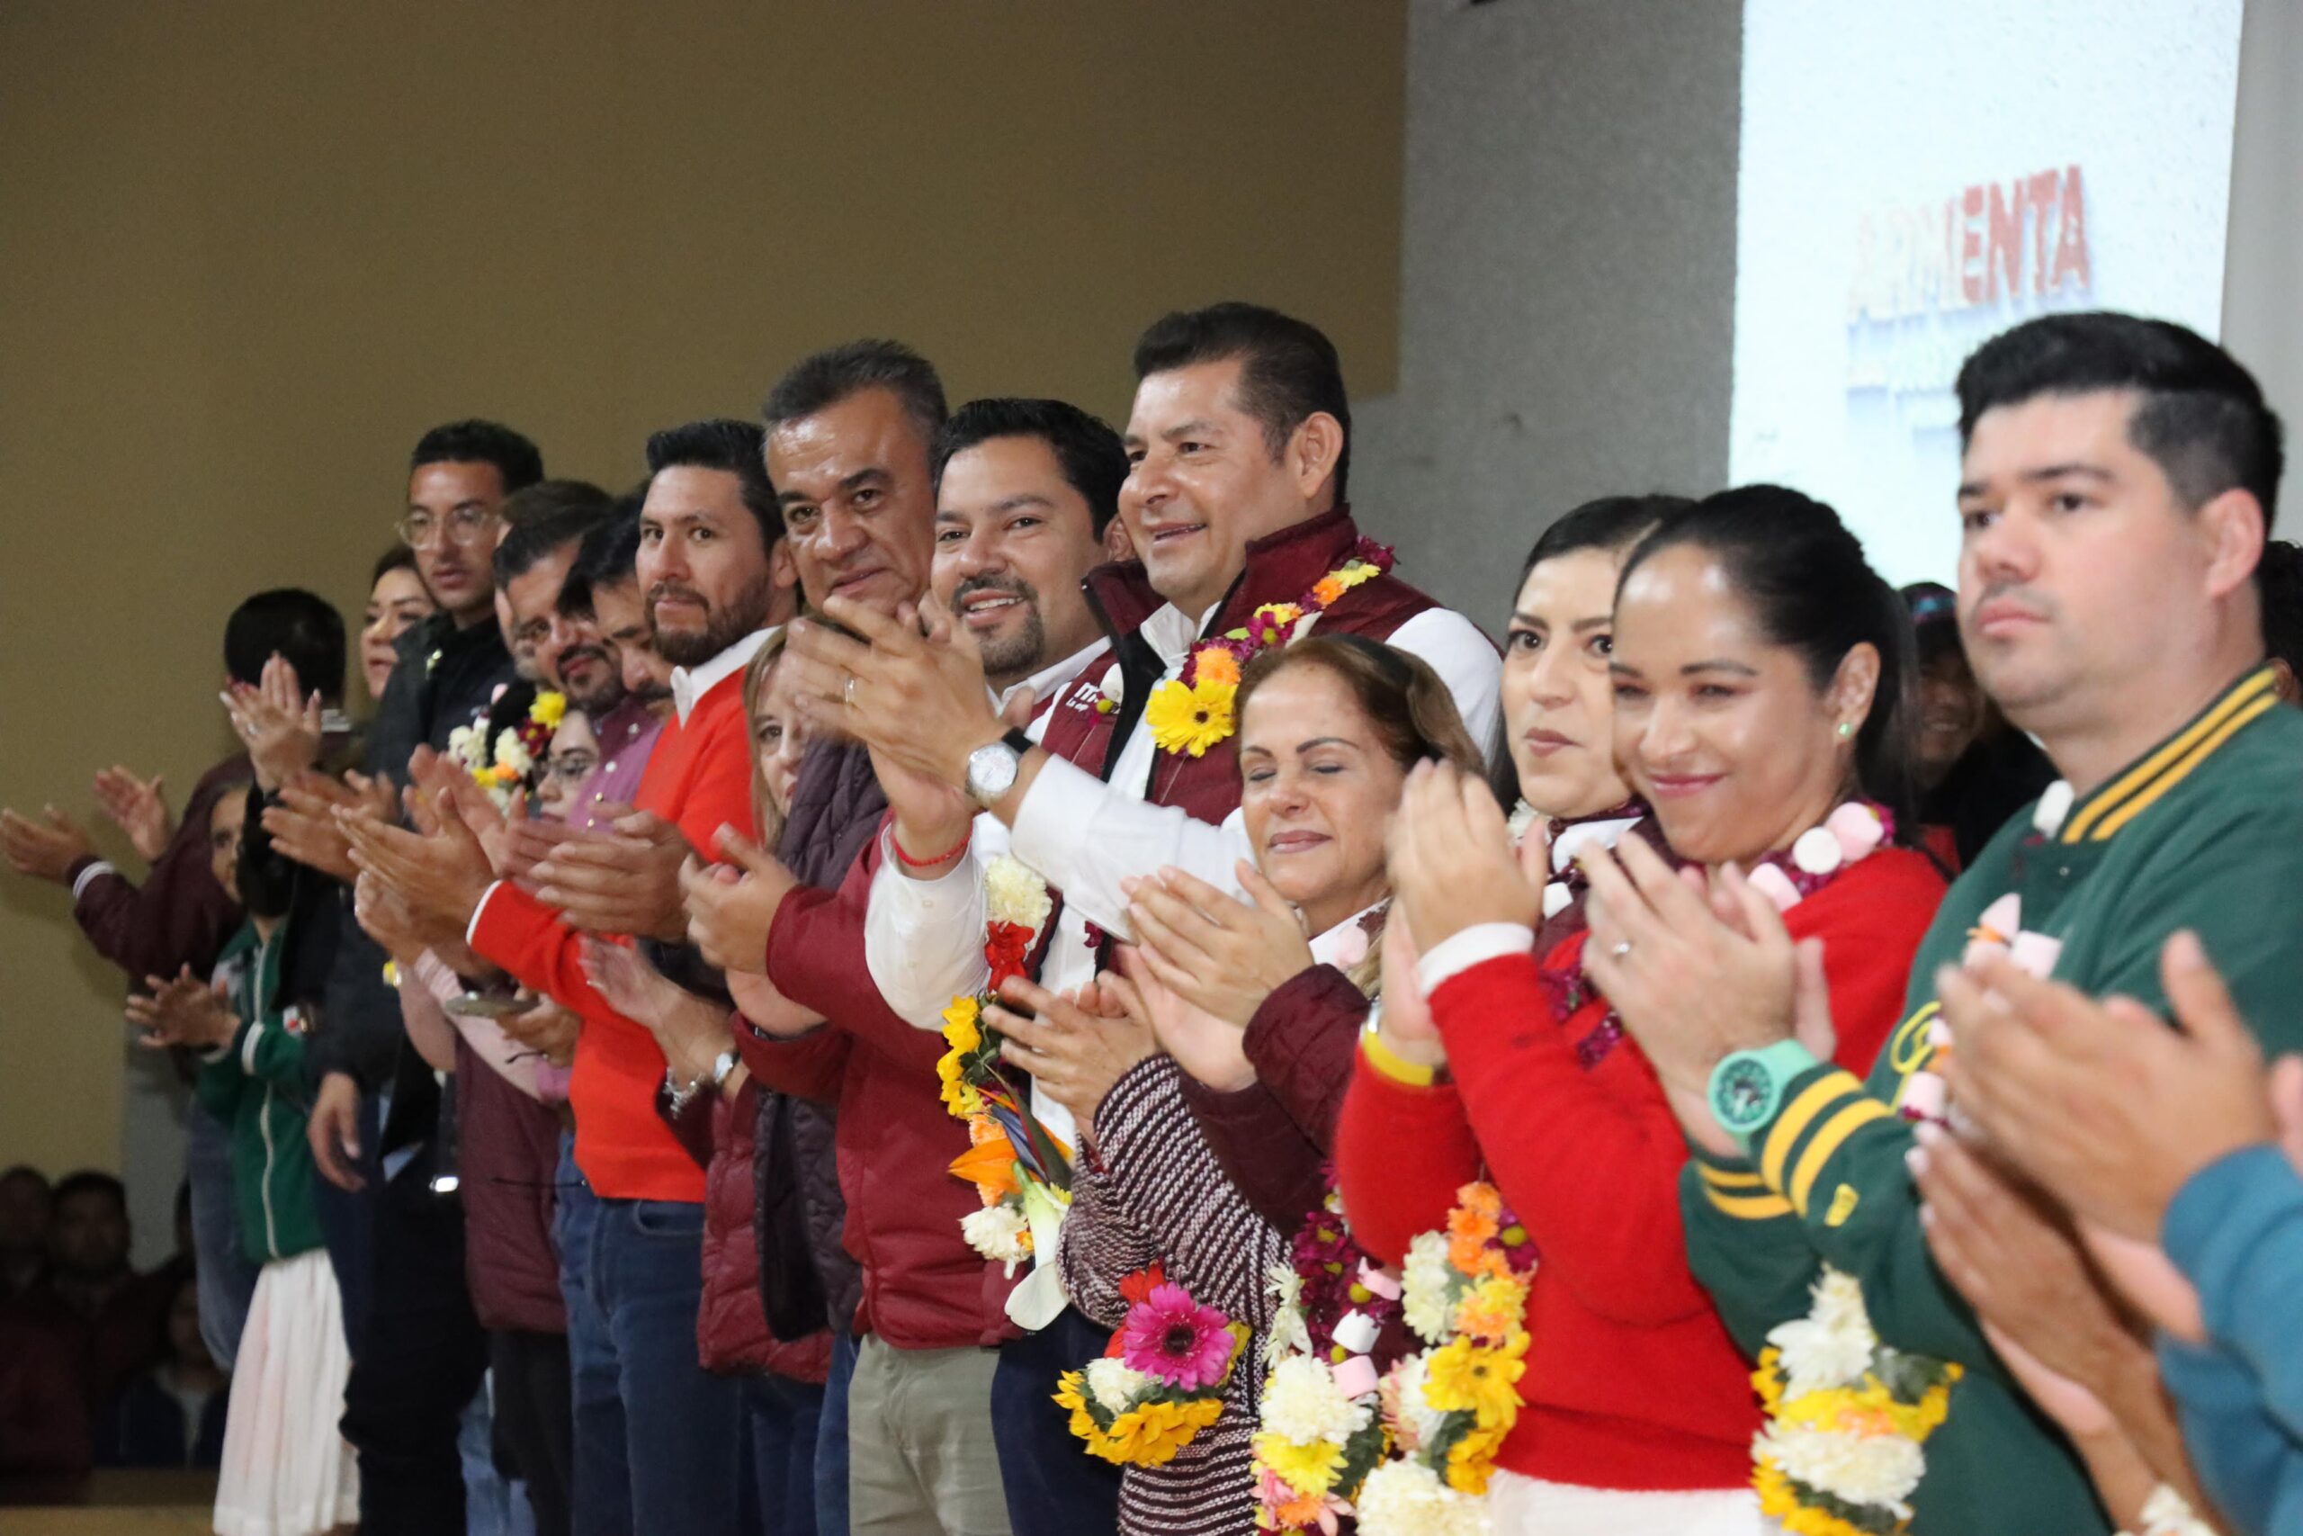
[[765, 1085], [838, 1103], [845, 1241], [864, 1264], [857, 1331], [898, 1349], [974, 1347], [1006, 1322], [1004, 1292], [986, 1287], [983, 1257], [960, 1237], [960, 1218], [981, 1200], [951, 1177], [967, 1126], [942, 1105], [944, 1036], [903, 1022], [864, 965], [880, 847], [880, 838], [864, 847], [838, 891], [785, 896], [767, 935], [767, 979], [831, 1022], [792, 1041], [737, 1029], [737, 1041]]

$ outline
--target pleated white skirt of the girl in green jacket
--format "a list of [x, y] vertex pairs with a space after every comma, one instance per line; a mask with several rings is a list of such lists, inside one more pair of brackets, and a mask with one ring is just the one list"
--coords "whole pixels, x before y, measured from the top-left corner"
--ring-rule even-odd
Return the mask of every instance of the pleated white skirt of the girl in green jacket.
[[219, 1536], [320, 1536], [359, 1518], [359, 1472], [336, 1428], [350, 1372], [327, 1250], [265, 1264], [223, 1414]]

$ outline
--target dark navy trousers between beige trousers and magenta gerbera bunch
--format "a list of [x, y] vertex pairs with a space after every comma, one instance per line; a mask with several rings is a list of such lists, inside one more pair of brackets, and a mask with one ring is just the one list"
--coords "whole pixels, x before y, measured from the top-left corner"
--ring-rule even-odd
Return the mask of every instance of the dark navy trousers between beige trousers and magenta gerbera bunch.
[[1055, 1379], [1099, 1359], [1112, 1331], [1078, 1308], [1039, 1333], [1000, 1345], [993, 1372], [993, 1442], [1016, 1536], [1092, 1536], [1119, 1529], [1119, 1467], [1080, 1453]]

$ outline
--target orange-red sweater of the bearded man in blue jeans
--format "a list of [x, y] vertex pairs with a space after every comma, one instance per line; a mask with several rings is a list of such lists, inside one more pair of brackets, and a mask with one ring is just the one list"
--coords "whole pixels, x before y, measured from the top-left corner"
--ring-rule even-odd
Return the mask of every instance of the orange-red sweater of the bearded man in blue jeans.
[[[675, 822], [707, 861], [716, 859], [712, 838], [721, 827], [753, 836], [742, 670], [696, 700], [686, 723], [663, 723], [633, 804]], [[520, 986], [583, 1016], [569, 1108], [576, 1110], [576, 1165], [592, 1191], [603, 1200], [700, 1202], [705, 1170], [656, 1115], [663, 1050], [645, 1025], [610, 1009], [585, 981], [583, 935], [507, 880], [481, 903], [472, 949]]]

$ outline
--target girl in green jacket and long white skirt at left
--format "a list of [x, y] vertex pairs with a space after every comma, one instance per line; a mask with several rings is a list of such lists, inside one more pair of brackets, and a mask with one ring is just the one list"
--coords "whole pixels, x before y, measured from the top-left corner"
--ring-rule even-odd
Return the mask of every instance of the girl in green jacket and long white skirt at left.
[[[219, 834], [249, 804], [249, 794], [219, 799]], [[237, 889], [237, 866], [240, 838], [219, 836], [216, 882]], [[288, 930], [329, 923], [334, 894], [309, 880], [286, 910], [240, 894], [249, 921], [223, 946], [214, 981], [150, 976], [152, 995], [129, 999], [129, 1022], [145, 1029], [145, 1045], [203, 1052], [198, 1094], [230, 1126], [242, 1241], [263, 1264], [233, 1366], [214, 1529], [309, 1536], [359, 1513], [352, 1446], [339, 1428], [352, 1361], [313, 1211], [311, 1145], [299, 1135], [304, 1045], [325, 974], [297, 976], [288, 963]]]

